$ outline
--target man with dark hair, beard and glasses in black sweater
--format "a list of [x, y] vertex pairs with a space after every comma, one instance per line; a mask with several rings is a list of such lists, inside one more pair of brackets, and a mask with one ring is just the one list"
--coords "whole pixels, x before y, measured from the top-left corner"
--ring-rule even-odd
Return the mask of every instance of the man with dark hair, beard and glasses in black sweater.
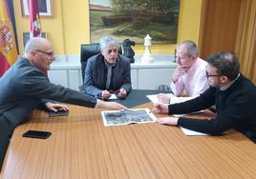
[[216, 105], [216, 116], [212, 120], [164, 117], [158, 122], [212, 135], [220, 135], [227, 129], [237, 129], [256, 142], [256, 87], [239, 72], [239, 61], [233, 53], [212, 54], [207, 58], [207, 63], [209, 89], [183, 103], [154, 104], [153, 110], [156, 113], [181, 114]]

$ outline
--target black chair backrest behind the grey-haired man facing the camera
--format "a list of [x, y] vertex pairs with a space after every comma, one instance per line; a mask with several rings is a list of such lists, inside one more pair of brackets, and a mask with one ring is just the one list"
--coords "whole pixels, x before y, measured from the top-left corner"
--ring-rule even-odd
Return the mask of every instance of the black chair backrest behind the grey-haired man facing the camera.
[[[98, 54], [100, 52], [100, 47], [98, 43], [94, 44], [82, 44], [80, 49], [80, 63], [81, 63], [81, 72], [82, 72], [82, 81], [84, 80], [84, 72], [86, 68], [87, 60]], [[121, 47], [118, 48], [118, 53], [122, 54]]]

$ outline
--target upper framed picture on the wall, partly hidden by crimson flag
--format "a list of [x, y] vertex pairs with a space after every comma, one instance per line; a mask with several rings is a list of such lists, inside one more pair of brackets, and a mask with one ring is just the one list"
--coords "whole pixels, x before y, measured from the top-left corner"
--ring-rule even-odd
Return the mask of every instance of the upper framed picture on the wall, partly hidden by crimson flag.
[[[40, 17], [53, 18], [53, 0], [37, 0]], [[22, 16], [29, 16], [28, 0], [20, 0]]]

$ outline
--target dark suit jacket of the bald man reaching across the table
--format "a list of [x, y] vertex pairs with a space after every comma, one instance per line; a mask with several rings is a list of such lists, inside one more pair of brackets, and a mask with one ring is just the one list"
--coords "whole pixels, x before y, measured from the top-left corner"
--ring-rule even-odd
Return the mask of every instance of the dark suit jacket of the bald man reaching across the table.
[[4, 115], [12, 128], [21, 124], [32, 109], [45, 105], [42, 99], [89, 108], [96, 106], [96, 98], [50, 83], [26, 58], [19, 58], [0, 78], [0, 84], [0, 116]]

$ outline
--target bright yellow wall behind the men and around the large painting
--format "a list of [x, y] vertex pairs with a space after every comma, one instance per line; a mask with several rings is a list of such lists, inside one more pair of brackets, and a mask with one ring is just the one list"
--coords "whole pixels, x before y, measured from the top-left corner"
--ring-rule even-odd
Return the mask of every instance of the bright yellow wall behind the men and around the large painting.
[[[190, 39], [198, 43], [201, 8], [203, 0], [181, 0], [178, 43]], [[15, 20], [18, 34], [18, 47], [23, 52], [22, 33], [29, 31], [29, 18], [21, 14], [20, 1], [14, 1]], [[42, 30], [53, 43], [56, 54], [79, 54], [80, 44], [90, 42], [88, 0], [53, 0], [53, 18], [40, 18]], [[176, 45], [153, 44], [153, 54], [173, 53]], [[134, 48], [142, 54], [141, 44]]]

